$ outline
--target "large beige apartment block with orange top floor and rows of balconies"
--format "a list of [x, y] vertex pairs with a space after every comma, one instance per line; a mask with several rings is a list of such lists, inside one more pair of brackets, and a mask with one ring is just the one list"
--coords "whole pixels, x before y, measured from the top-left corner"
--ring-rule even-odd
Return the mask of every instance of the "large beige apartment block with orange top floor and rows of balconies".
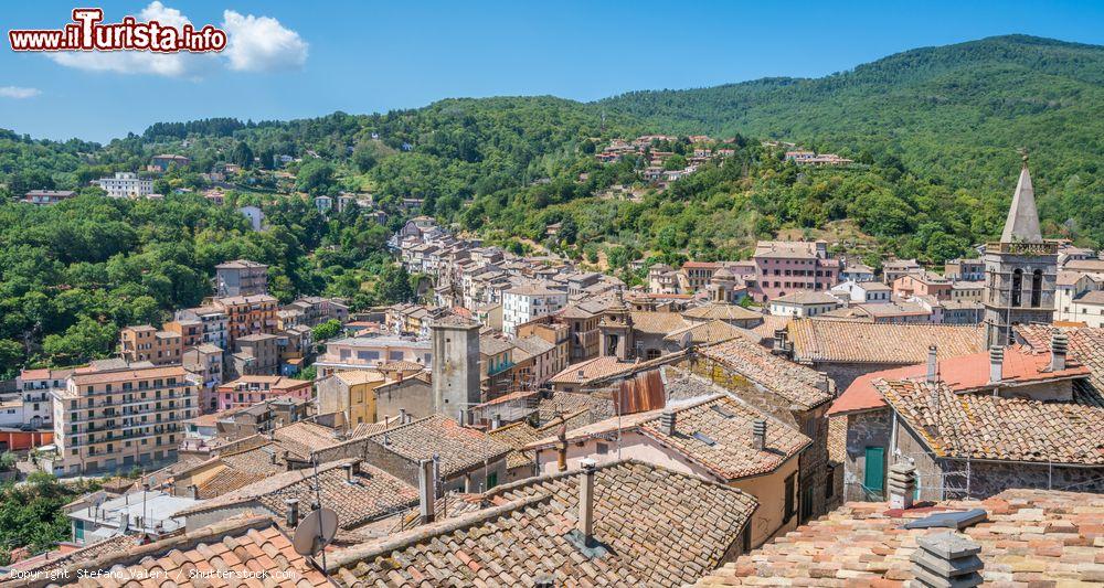
[[57, 474], [128, 470], [174, 460], [181, 421], [199, 414], [198, 386], [182, 366], [93, 362], [53, 392]]

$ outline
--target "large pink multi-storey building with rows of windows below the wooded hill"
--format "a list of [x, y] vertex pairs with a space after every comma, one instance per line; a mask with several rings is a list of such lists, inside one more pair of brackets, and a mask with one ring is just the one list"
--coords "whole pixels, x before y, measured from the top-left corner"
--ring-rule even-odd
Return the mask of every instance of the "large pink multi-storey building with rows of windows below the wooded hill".
[[761, 240], [755, 245], [755, 300], [766, 302], [797, 291], [827, 291], [839, 282], [839, 259], [828, 258], [828, 244]]

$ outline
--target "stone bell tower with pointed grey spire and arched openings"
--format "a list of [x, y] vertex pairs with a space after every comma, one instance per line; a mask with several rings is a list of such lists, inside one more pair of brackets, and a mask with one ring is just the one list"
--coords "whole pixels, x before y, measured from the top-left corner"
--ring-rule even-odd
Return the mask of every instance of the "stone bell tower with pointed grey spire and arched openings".
[[1058, 244], [1042, 239], [1034, 189], [1023, 157], [999, 243], [985, 246], [985, 329], [991, 348], [1015, 340], [1016, 324], [1051, 323], [1058, 278]]

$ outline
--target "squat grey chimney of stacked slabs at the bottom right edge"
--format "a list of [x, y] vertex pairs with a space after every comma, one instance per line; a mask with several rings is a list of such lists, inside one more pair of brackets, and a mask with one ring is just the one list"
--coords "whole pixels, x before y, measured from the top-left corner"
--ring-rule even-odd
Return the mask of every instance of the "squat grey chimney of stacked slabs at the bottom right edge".
[[923, 587], [954, 586], [970, 588], [981, 584], [985, 563], [977, 556], [981, 546], [958, 533], [937, 533], [916, 539], [912, 553], [912, 573]]

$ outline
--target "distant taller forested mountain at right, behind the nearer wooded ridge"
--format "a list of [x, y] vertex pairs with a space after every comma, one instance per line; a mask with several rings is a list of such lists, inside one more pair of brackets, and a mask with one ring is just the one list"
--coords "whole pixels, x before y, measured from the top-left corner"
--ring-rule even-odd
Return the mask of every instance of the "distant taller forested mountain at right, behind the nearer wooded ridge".
[[925, 47], [817, 79], [599, 100], [650, 129], [797, 140], [970, 190], [1007, 190], [1027, 148], [1043, 215], [1104, 238], [1104, 47], [1023, 35]]

